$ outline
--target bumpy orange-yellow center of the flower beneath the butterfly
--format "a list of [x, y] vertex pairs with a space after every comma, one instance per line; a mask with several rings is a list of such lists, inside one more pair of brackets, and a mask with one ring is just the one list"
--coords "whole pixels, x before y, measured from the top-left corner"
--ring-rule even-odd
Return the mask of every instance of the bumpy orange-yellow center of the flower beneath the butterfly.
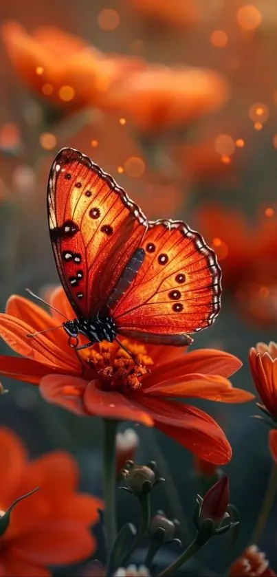
[[94, 378], [97, 373], [103, 391], [137, 391], [142, 387], [144, 377], [150, 372], [148, 366], [153, 364], [153, 360], [148, 356], [144, 345], [129, 340], [122, 340], [122, 345], [131, 356], [118, 342], [106, 340], [80, 351], [82, 360], [89, 365]]

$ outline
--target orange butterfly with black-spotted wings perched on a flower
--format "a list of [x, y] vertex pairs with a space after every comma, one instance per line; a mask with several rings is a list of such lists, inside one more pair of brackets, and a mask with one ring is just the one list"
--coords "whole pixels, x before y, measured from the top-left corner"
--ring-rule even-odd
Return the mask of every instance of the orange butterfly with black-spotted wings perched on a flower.
[[[47, 186], [49, 234], [76, 318], [63, 327], [76, 348], [118, 335], [188, 345], [220, 309], [221, 270], [201, 235], [182, 221], [148, 221], [115, 180], [71, 148]], [[78, 336], [87, 338], [78, 345]]]

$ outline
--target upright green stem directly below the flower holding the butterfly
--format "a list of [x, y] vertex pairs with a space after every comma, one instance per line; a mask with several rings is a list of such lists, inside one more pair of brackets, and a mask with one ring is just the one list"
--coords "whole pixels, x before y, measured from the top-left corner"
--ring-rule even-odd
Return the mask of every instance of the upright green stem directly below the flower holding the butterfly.
[[110, 419], [104, 420], [104, 522], [108, 552], [110, 552], [113, 547], [117, 533], [115, 513], [115, 437], [117, 426], [118, 421]]

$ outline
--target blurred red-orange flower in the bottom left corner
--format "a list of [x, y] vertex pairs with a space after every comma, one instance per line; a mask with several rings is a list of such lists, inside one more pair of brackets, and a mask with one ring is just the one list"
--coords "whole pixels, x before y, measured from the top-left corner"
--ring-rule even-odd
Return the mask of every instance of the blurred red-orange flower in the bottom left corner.
[[1, 575], [47, 577], [48, 565], [77, 563], [95, 551], [89, 527], [103, 505], [78, 492], [78, 466], [71, 455], [55, 451], [30, 461], [21, 439], [1, 427], [0, 468], [2, 512], [40, 487], [12, 511], [1, 536]]

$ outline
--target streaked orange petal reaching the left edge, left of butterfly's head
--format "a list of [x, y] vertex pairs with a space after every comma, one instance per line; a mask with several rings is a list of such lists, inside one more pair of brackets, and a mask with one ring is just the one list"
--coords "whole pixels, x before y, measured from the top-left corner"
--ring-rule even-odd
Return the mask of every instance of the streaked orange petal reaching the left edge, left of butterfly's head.
[[16, 353], [67, 371], [80, 372], [80, 362], [70, 347], [60, 348], [43, 334], [28, 337], [33, 329], [20, 318], [0, 314], [0, 336]]

